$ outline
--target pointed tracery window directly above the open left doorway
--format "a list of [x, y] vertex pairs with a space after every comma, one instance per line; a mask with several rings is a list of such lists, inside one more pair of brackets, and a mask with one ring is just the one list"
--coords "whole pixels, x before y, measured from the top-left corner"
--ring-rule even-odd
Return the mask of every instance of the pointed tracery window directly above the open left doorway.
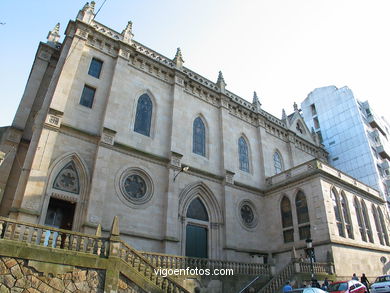
[[75, 194], [80, 193], [79, 174], [73, 161], [67, 163], [58, 172], [53, 182], [53, 188]]

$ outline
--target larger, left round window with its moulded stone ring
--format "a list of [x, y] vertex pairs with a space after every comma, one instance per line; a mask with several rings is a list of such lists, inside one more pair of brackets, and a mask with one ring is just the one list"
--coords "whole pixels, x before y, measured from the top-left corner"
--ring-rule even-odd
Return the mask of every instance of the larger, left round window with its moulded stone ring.
[[149, 201], [153, 194], [150, 177], [136, 168], [127, 169], [122, 173], [119, 186], [123, 198], [137, 205]]

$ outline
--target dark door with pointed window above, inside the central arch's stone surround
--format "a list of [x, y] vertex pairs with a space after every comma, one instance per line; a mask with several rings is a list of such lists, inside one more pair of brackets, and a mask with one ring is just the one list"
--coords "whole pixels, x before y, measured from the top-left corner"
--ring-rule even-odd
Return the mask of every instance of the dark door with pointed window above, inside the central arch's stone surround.
[[192, 200], [187, 209], [186, 223], [186, 256], [208, 257], [209, 216], [199, 199]]

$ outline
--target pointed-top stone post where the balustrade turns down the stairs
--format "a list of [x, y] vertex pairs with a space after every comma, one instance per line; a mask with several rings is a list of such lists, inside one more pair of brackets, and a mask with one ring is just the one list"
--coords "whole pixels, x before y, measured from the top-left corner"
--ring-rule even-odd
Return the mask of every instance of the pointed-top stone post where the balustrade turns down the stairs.
[[109, 249], [108, 249], [108, 266], [106, 270], [106, 281], [104, 284], [104, 292], [117, 292], [119, 283], [119, 270], [116, 266], [118, 257], [120, 256], [120, 232], [118, 216], [115, 216], [112, 221]]

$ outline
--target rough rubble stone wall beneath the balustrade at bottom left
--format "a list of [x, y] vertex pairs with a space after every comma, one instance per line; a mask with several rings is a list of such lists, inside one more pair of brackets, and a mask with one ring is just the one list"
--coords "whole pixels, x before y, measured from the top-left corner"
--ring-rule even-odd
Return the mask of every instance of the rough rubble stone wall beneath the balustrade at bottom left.
[[0, 256], [0, 284], [1, 293], [103, 292], [104, 270]]

